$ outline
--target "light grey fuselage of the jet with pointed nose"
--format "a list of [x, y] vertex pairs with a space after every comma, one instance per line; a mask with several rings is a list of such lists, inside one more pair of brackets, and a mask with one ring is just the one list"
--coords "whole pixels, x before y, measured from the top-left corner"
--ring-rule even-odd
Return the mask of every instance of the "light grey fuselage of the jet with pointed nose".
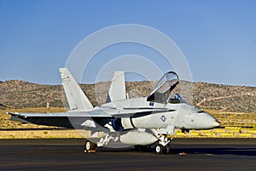
[[[115, 117], [121, 118], [121, 124], [125, 129], [170, 126], [183, 129], [209, 129], [219, 126], [216, 118], [184, 102], [162, 104], [147, 101], [146, 98], [133, 98], [104, 104], [101, 109], [110, 115], [115, 111]], [[125, 111], [132, 112], [133, 115], [125, 116]]]

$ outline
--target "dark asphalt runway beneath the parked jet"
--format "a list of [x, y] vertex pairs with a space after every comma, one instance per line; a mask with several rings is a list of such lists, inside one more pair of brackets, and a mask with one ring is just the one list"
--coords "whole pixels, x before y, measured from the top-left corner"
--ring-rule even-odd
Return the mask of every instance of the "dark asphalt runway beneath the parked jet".
[[[84, 153], [82, 139], [0, 140], [0, 170], [255, 170], [256, 139], [175, 139], [169, 155]], [[180, 152], [187, 155], [180, 156]]]

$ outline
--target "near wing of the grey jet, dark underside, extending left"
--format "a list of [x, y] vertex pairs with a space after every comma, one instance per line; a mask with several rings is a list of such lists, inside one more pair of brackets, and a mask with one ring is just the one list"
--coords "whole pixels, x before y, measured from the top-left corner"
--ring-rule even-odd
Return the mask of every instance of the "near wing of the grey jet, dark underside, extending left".
[[167, 108], [99, 108], [94, 111], [70, 111], [61, 113], [18, 113], [8, 112], [10, 120], [64, 128], [102, 129], [114, 117], [143, 117], [160, 112], [175, 111]]

